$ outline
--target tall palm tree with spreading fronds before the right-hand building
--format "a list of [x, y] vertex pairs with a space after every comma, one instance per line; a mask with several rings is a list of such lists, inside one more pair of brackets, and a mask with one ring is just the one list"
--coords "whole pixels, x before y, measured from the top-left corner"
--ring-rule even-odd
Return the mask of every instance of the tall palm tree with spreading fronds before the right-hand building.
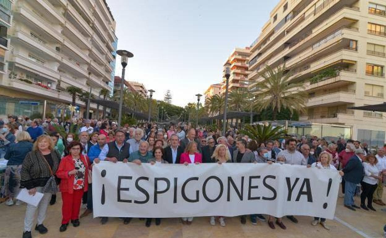
[[[288, 73], [287, 73], [288, 72]], [[256, 79], [250, 87], [252, 95], [255, 97], [254, 108], [258, 111], [271, 109], [273, 120], [281, 108], [288, 108], [291, 113], [296, 111], [305, 111], [306, 96], [303, 91], [302, 83], [294, 83], [290, 77], [292, 71], [279, 66], [276, 70], [271, 66], [266, 66], [264, 71], [259, 73], [261, 79]], [[259, 77], [259, 78], [260, 78]]]

